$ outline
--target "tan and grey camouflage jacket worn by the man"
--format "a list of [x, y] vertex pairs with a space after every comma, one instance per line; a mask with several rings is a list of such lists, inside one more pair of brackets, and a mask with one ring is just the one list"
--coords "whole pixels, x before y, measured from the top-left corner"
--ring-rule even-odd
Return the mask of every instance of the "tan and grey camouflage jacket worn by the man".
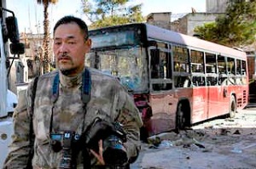
[[[9, 146], [10, 152], [3, 168], [25, 168], [31, 149], [31, 113], [35, 135], [33, 168], [57, 168], [60, 164], [61, 152], [55, 153], [50, 146], [50, 123], [52, 132], [73, 131], [81, 134], [84, 132], [83, 128], [87, 128], [96, 117], [123, 124], [127, 134], [127, 142], [124, 145], [128, 158], [137, 156], [140, 149], [139, 128], [142, 126], [142, 120], [133, 99], [119, 81], [90, 69], [90, 101], [84, 114], [81, 99], [82, 74], [70, 78], [60, 73], [59, 96], [53, 103], [52, 86], [57, 73], [59, 71], [55, 70], [39, 76], [33, 112], [33, 82], [27, 87], [26, 93], [20, 93], [14, 113], [13, 142]], [[79, 165], [82, 165], [81, 160], [78, 160]], [[94, 157], [91, 157], [91, 165], [97, 166]]]

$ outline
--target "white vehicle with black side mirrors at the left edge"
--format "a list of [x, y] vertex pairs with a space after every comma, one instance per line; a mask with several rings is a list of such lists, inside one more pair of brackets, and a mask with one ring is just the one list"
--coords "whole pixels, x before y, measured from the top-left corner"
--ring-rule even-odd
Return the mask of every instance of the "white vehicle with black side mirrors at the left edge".
[[[17, 104], [17, 96], [8, 89], [7, 54], [9, 51], [14, 55], [24, 54], [15, 14], [4, 8], [5, 4], [5, 0], [0, 0], [0, 168], [3, 168], [3, 162], [9, 152], [8, 146], [13, 133], [11, 116]], [[7, 17], [7, 14], [11, 16]]]

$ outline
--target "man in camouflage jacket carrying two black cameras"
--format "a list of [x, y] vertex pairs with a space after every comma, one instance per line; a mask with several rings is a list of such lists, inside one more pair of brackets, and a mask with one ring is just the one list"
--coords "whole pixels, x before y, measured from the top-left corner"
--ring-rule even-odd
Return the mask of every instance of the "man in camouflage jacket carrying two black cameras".
[[[15, 134], [4, 168], [28, 167], [31, 154], [33, 168], [58, 168], [69, 163], [77, 168], [111, 168], [114, 164], [108, 165], [103, 158], [104, 138], [96, 141], [98, 149], [85, 144], [86, 139], [90, 140], [86, 133], [94, 129], [96, 119], [105, 121], [105, 126], [113, 121], [121, 124], [127, 138], [121, 149], [127, 161], [119, 165], [129, 166], [136, 159], [142, 126], [138, 110], [116, 78], [85, 68], [84, 57], [90, 46], [83, 20], [66, 16], [56, 23], [54, 54], [58, 70], [39, 76], [37, 84], [34, 80], [26, 93], [20, 93], [14, 114]], [[73, 136], [72, 142], [79, 144], [68, 147], [66, 136]], [[75, 156], [75, 160], [69, 161], [68, 155]]]

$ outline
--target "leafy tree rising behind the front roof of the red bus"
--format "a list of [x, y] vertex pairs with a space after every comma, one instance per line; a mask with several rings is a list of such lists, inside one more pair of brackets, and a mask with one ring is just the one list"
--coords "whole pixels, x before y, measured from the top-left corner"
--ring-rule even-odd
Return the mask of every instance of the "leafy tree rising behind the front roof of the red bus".
[[131, 0], [83, 0], [84, 14], [91, 21], [90, 28], [143, 21], [142, 4], [131, 5]]

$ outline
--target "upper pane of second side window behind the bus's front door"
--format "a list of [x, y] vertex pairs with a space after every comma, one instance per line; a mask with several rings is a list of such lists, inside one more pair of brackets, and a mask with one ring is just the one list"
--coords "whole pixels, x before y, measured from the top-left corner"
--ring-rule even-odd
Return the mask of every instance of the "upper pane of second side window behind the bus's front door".
[[191, 71], [197, 73], [204, 73], [204, 57], [203, 53], [191, 50]]

